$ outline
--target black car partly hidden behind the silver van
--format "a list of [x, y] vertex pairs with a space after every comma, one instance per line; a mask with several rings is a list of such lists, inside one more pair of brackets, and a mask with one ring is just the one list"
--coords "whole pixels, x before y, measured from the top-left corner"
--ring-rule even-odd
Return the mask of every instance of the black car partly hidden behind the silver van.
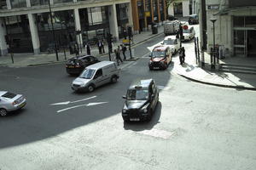
[[70, 75], [80, 74], [84, 71], [86, 66], [93, 65], [98, 62], [100, 62], [100, 60], [91, 55], [76, 56], [67, 60], [66, 71]]

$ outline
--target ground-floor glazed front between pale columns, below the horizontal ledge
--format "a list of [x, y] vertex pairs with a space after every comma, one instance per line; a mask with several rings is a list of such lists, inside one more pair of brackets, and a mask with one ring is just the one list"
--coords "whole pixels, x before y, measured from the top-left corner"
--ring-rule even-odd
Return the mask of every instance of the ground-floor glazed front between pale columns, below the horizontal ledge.
[[[34, 13], [34, 14], [33, 14]], [[1, 55], [48, 52], [77, 44], [96, 44], [108, 33], [113, 40], [124, 37], [132, 26], [131, 3], [90, 8], [70, 8], [52, 13], [28, 13], [0, 18]]]

